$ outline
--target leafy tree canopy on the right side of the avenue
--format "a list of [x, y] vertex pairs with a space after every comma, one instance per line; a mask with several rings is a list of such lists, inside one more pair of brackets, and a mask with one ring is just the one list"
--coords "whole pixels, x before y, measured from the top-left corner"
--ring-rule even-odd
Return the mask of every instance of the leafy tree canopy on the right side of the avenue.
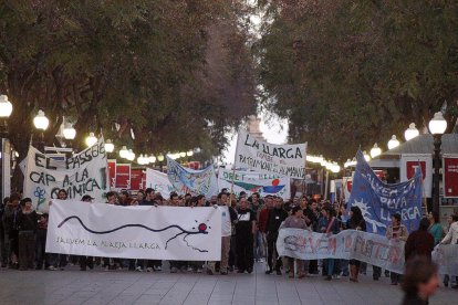
[[[341, 159], [447, 105], [457, 122], [455, 1], [260, 1], [264, 105], [290, 120], [290, 138]], [[385, 146], [385, 143], [381, 144]]]

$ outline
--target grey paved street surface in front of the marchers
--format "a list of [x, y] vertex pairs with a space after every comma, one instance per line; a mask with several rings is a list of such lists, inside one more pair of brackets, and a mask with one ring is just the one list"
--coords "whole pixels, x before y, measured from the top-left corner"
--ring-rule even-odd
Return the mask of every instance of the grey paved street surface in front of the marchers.
[[[358, 284], [347, 278], [289, 280], [263, 274], [170, 274], [136, 272], [0, 271], [0, 304], [399, 304], [388, 278]], [[457, 291], [440, 288], [430, 304], [456, 304]], [[454, 301], [455, 299], [455, 301]]]

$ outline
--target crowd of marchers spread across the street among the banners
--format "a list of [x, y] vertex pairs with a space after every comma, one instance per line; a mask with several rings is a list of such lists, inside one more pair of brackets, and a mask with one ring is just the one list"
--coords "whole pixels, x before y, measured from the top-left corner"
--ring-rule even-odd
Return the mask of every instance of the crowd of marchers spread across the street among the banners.
[[[65, 190], [59, 191], [59, 199], [66, 200]], [[84, 196], [81, 201], [92, 202], [93, 198]], [[230, 196], [223, 189], [218, 196], [207, 200], [205, 196], [179, 196], [175, 192], [169, 198], [163, 198], [154, 189], [138, 191], [131, 196], [128, 191], [106, 193], [106, 203], [117, 206], [171, 206], [171, 207], [220, 207], [222, 210], [221, 228], [221, 261], [219, 262], [186, 262], [169, 261], [169, 271], [201, 273], [206, 267], [209, 275], [219, 273], [252, 273], [256, 262], [266, 263], [266, 274], [302, 278], [319, 275], [320, 271], [326, 281], [348, 276], [351, 282], [358, 282], [360, 274], [366, 273], [366, 264], [356, 260], [311, 260], [301, 261], [293, 257], [280, 257], [277, 253], [277, 239], [281, 228], [296, 228], [314, 232], [337, 234], [342, 230], [366, 230], [362, 211], [352, 207], [346, 212], [345, 204], [329, 201], [318, 201], [308, 197], [283, 201], [275, 196], [261, 198], [259, 193], [238, 198]], [[52, 207], [51, 207], [52, 208]], [[163, 261], [159, 260], [122, 260], [111, 257], [90, 257], [45, 252], [48, 214], [33, 210], [30, 198], [21, 198], [14, 193], [4, 198], [1, 206], [0, 222], [0, 254], [1, 266], [19, 270], [64, 270], [69, 264], [79, 264], [82, 271], [103, 267], [106, 271], [128, 269], [131, 271], [159, 272]], [[437, 213], [423, 218], [417, 231], [408, 234], [402, 224], [400, 214], [392, 215], [392, 224], [387, 228], [386, 236], [406, 242], [406, 262], [421, 256], [430, 262], [431, 251], [438, 243], [457, 243], [458, 217], [449, 217], [448, 229], [444, 230]], [[445, 233], [447, 232], [447, 233]], [[294, 266], [295, 262], [295, 267]], [[382, 269], [373, 267], [373, 280], [378, 281]], [[431, 269], [434, 270], [434, 269]], [[437, 276], [437, 272], [434, 273]], [[402, 275], [385, 271], [393, 285], [406, 283]], [[407, 275], [406, 275], [407, 276]], [[408, 276], [406, 278], [409, 278]], [[450, 276], [444, 278], [448, 286]], [[456, 278], [455, 278], [456, 280]], [[408, 282], [412, 285], [410, 282]], [[451, 284], [450, 284], [451, 285]], [[452, 285], [458, 288], [458, 285]], [[412, 291], [412, 287], [406, 290]], [[406, 291], [407, 292], [407, 291]]]

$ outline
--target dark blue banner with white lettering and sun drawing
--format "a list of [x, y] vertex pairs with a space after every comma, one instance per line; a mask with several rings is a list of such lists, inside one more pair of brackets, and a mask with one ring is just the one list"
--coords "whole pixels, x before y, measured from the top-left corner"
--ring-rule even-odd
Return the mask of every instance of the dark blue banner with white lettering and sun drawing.
[[388, 185], [374, 173], [361, 150], [356, 160], [348, 209], [361, 209], [367, 232], [385, 235], [395, 213], [400, 214], [409, 232], [417, 230], [421, 218], [421, 171], [417, 170], [408, 181]]

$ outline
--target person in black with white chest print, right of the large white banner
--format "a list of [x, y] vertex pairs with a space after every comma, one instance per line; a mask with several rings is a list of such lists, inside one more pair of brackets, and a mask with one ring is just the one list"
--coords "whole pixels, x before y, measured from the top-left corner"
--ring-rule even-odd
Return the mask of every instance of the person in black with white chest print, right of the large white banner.
[[253, 238], [256, 231], [256, 214], [248, 208], [247, 199], [241, 198], [236, 221], [238, 273], [253, 272]]

